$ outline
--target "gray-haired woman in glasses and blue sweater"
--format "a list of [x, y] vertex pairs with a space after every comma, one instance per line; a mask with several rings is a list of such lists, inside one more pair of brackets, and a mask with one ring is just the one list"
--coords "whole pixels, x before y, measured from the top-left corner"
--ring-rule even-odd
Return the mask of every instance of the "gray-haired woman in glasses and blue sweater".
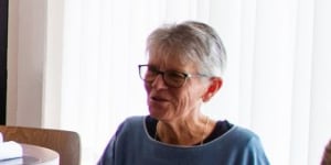
[[153, 31], [139, 65], [149, 116], [125, 120], [99, 165], [268, 165], [258, 136], [201, 112], [221, 89], [226, 63], [216, 32], [201, 22]]

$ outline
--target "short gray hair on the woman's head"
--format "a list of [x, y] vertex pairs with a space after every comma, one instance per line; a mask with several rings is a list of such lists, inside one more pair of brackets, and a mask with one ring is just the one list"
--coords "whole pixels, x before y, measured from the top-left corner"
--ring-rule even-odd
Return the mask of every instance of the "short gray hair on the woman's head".
[[226, 65], [226, 52], [216, 31], [196, 21], [154, 30], [147, 38], [147, 53], [175, 58], [182, 64], [193, 62], [200, 74], [209, 76], [221, 77]]

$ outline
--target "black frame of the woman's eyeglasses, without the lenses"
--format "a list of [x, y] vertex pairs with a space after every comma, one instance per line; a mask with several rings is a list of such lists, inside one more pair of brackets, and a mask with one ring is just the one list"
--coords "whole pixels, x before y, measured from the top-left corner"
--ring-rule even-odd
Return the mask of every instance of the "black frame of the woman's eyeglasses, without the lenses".
[[[146, 80], [146, 79], [145, 79], [145, 76], [146, 76], [146, 75], [141, 75], [141, 74], [142, 74], [141, 67], [147, 67], [148, 69], [149, 69], [149, 67], [153, 68], [152, 72], [153, 72], [154, 74], [157, 74], [157, 75], [161, 75], [161, 76], [162, 76], [162, 80], [164, 81], [164, 84], [166, 84], [168, 87], [171, 87], [171, 88], [181, 88], [181, 87], [186, 82], [186, 80], [188, 80], [189, 78], [192, 78], [192, 77], [210, 77], [210, 76], [203, 75], [203, 74], [189, 74], [189, 73], [182, 73], [182, 72], [177, 72], [177, 70], [164, 70], [164, 72], [161, 72], [161, 70], [159, 70], [159, 69], [152, 67], [151, 65], [147, 65], [147, 64], [145, 64], [145, 65], [138, 65], [139, 77], [140, 77], [143, 81], [146, 81], [146, 82], [152, 82], [152, 81], [154, 81], [154, 79], [157, 78], [157, 76], [156, 76], [152, 80]], [[182, 75], [182, 76], [183, 76], [183, 82], [179, 84], [178, 86], [170, 85], [170, 84], [168, 82], [168, 80], [166, 80], [166, 78], [164, 78], [164, 75], [166, 75], [167, 73], [169, 73], [169, 74], [175, 73], [175, 74], [178, 74], [178, 75]]]

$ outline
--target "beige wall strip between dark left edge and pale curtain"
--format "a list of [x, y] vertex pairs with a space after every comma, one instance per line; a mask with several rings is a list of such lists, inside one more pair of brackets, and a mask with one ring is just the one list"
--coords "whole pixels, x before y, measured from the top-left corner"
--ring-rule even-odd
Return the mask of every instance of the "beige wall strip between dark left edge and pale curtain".
[[9, 1], [7, 124], [42, 124], [46, 4], [46, 0]]

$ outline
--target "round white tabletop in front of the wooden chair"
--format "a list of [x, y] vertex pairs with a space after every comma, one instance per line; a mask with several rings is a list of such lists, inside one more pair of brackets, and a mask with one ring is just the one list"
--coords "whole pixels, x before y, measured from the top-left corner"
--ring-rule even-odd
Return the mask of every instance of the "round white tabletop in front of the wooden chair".
[[21, 144], [23, 157], [1, 161], [0, 165], [58, 165], [60, 155], [57, 152], [31, 144]]

